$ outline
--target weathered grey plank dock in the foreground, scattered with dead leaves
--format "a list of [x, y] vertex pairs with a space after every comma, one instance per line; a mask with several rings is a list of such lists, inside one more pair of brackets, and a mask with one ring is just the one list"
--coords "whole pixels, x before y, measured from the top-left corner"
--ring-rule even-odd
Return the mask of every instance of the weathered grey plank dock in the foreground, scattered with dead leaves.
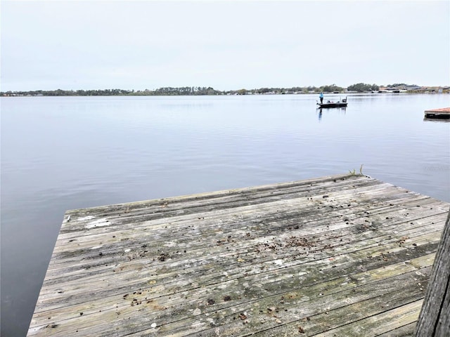
[[68, 211], [27, 336], [410, 336], [449, 206], [345, 175]]

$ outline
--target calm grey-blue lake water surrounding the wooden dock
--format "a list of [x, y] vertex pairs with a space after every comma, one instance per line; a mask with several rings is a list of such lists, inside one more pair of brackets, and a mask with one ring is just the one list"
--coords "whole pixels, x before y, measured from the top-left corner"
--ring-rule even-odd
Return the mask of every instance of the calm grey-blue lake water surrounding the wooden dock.
[[[341, 95], [344, 98], [343, 95]], [[1, 98], [1, 336], [25, 336], [63, 216], [359, 171], [450, 201], [446, 94]], [[340, 95], [326, 95], [337, 100]]]

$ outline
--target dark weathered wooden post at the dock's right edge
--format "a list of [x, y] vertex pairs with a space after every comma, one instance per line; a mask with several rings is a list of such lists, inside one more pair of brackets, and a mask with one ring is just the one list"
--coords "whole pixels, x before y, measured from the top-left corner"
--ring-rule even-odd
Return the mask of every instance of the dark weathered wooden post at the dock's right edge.
[[449, 336], [450, 330], [450, 211], [437, 248], [430, 282], [416, 326], [416, 337]]

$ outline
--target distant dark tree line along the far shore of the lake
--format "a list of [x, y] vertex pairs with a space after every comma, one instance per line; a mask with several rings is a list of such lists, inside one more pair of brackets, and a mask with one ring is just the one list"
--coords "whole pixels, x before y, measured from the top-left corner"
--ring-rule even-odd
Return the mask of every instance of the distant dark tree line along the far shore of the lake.
[[[390, 84], [387, 87], [395, 88], [397, 86], [407, 86], [407, 84]], [[258, 89], [239, 89], [231, 91], [218, 91], [214, 88], [200, 87], [200, 86], [182, 86], [178, 88], [163, 87], [155, 90], [145, 89], [143, 91], [138, 90], [126, 90], [126, 89], [98, 89], [98, 90], [37, 90], [37, 91], [2, 91], [0, 94], [3, 96], [8, 95], [42, 95], [42, 96], [114, 96], [114, 95], [247, 95], [247, 94], [266, 94], [266, 93], [342, 93], [345, 91], [367, 92], [378, 91], [380, 86], [377, 84], [364, 84], [357, 83], [342, 88], [335, 84], [326, 86], [295, 86], [292, 88], [258, 88]]]

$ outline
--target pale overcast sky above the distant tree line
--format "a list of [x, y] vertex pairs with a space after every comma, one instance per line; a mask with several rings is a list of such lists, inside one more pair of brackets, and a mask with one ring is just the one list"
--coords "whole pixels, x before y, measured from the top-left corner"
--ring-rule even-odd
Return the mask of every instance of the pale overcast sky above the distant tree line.
[[1, 91], [450, 84], [450, 1], [1, 1]]

